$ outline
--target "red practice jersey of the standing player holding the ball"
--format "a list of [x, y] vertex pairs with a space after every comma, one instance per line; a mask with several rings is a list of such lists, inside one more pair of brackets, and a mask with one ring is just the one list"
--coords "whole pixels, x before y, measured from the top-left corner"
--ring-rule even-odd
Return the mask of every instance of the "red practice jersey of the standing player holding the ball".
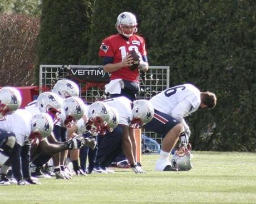
[[[122, 62], [126, 53], [131, 50], [140, 52], [142, 56], [146, 55], [145, 41], [139, 35], [132, 35], [129, 39], [122, 37], [120, 34], [111, 35], [105, 38], [100, 46], [100, 57], [112, 57], [113, 63]], [[129, 81], [138, 81], [139, 69], [131, 70], [130, 67], [124, 67], [111, 73], [110, 79], [126, 79]]]

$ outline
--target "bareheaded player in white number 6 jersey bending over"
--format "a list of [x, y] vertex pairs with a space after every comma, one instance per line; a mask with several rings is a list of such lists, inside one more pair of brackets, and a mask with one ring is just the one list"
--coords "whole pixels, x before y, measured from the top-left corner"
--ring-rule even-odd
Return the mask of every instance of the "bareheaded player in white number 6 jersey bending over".
[[190, 130], [184, 118], [199, 108], [214, 108], [216, 96], [209, 91], [200, 92], [192, 84], [182, 84], [162, 91], [149, 101], [154, 106], [155, 114], [144, 128], [146, 131], [163, 134], [162, 149], [155, 170], [176, 171], [171, 167], [169, 155], [179, 137], [181, 146], [188, 145]]

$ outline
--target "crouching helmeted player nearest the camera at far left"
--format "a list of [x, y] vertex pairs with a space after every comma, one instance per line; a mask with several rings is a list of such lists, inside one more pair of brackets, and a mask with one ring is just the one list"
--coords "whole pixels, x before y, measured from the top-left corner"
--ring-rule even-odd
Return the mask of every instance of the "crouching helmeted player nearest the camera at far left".
[[[6, 174], [10, 165], [12, 165], [13, 175], [18, 185], [38, 184], [36, 180], [32, 180], [29, 174], [29, 149], [27, 152], [22, 152], [26, 151], [22, 149], [25, 142], [38, 138], [37, 148], [42, 154], [54, 154], [63, 150], [77, 149], [84, 144], [83, 139], [77, 137], [60, 144], [48, 143], [45, 137], [51, 135], [53, 120], [50, 115], [45, 113], [32, 116], [28, 111], [19, 109], [14, 114], [8, 115], [6, 120], [0, 121], [0, 129], [16, 138], [9, 159], [4, 162], [0, 172], [1, 182], [5, 182], [6, 185], [8, 185]], [[28, 156], [21, 157], [21, 154]], [[22, 169], [21, 162], [23, 164]]]

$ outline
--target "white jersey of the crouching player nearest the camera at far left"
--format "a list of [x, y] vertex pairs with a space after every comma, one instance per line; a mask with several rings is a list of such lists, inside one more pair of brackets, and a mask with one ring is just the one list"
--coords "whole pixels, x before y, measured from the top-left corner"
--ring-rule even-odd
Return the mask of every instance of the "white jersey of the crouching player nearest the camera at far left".
[[6, 120], [0, 121], [0, 129], [13, 132], [16, 142], [23, 146], [31, 134], [32, 115], [23, 109], [16, 110], [12, 115], [7, 115]]

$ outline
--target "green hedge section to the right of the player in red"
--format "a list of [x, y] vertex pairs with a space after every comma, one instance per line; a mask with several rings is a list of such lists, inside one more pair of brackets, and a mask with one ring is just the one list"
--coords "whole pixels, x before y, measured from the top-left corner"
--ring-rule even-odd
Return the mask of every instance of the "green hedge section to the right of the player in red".
[[150, 64], [169, 65], [171, 84], [218, 97], [188, 118], [194, 149], [254, 151], [255, 1], [147, 1], [141, 28]]

